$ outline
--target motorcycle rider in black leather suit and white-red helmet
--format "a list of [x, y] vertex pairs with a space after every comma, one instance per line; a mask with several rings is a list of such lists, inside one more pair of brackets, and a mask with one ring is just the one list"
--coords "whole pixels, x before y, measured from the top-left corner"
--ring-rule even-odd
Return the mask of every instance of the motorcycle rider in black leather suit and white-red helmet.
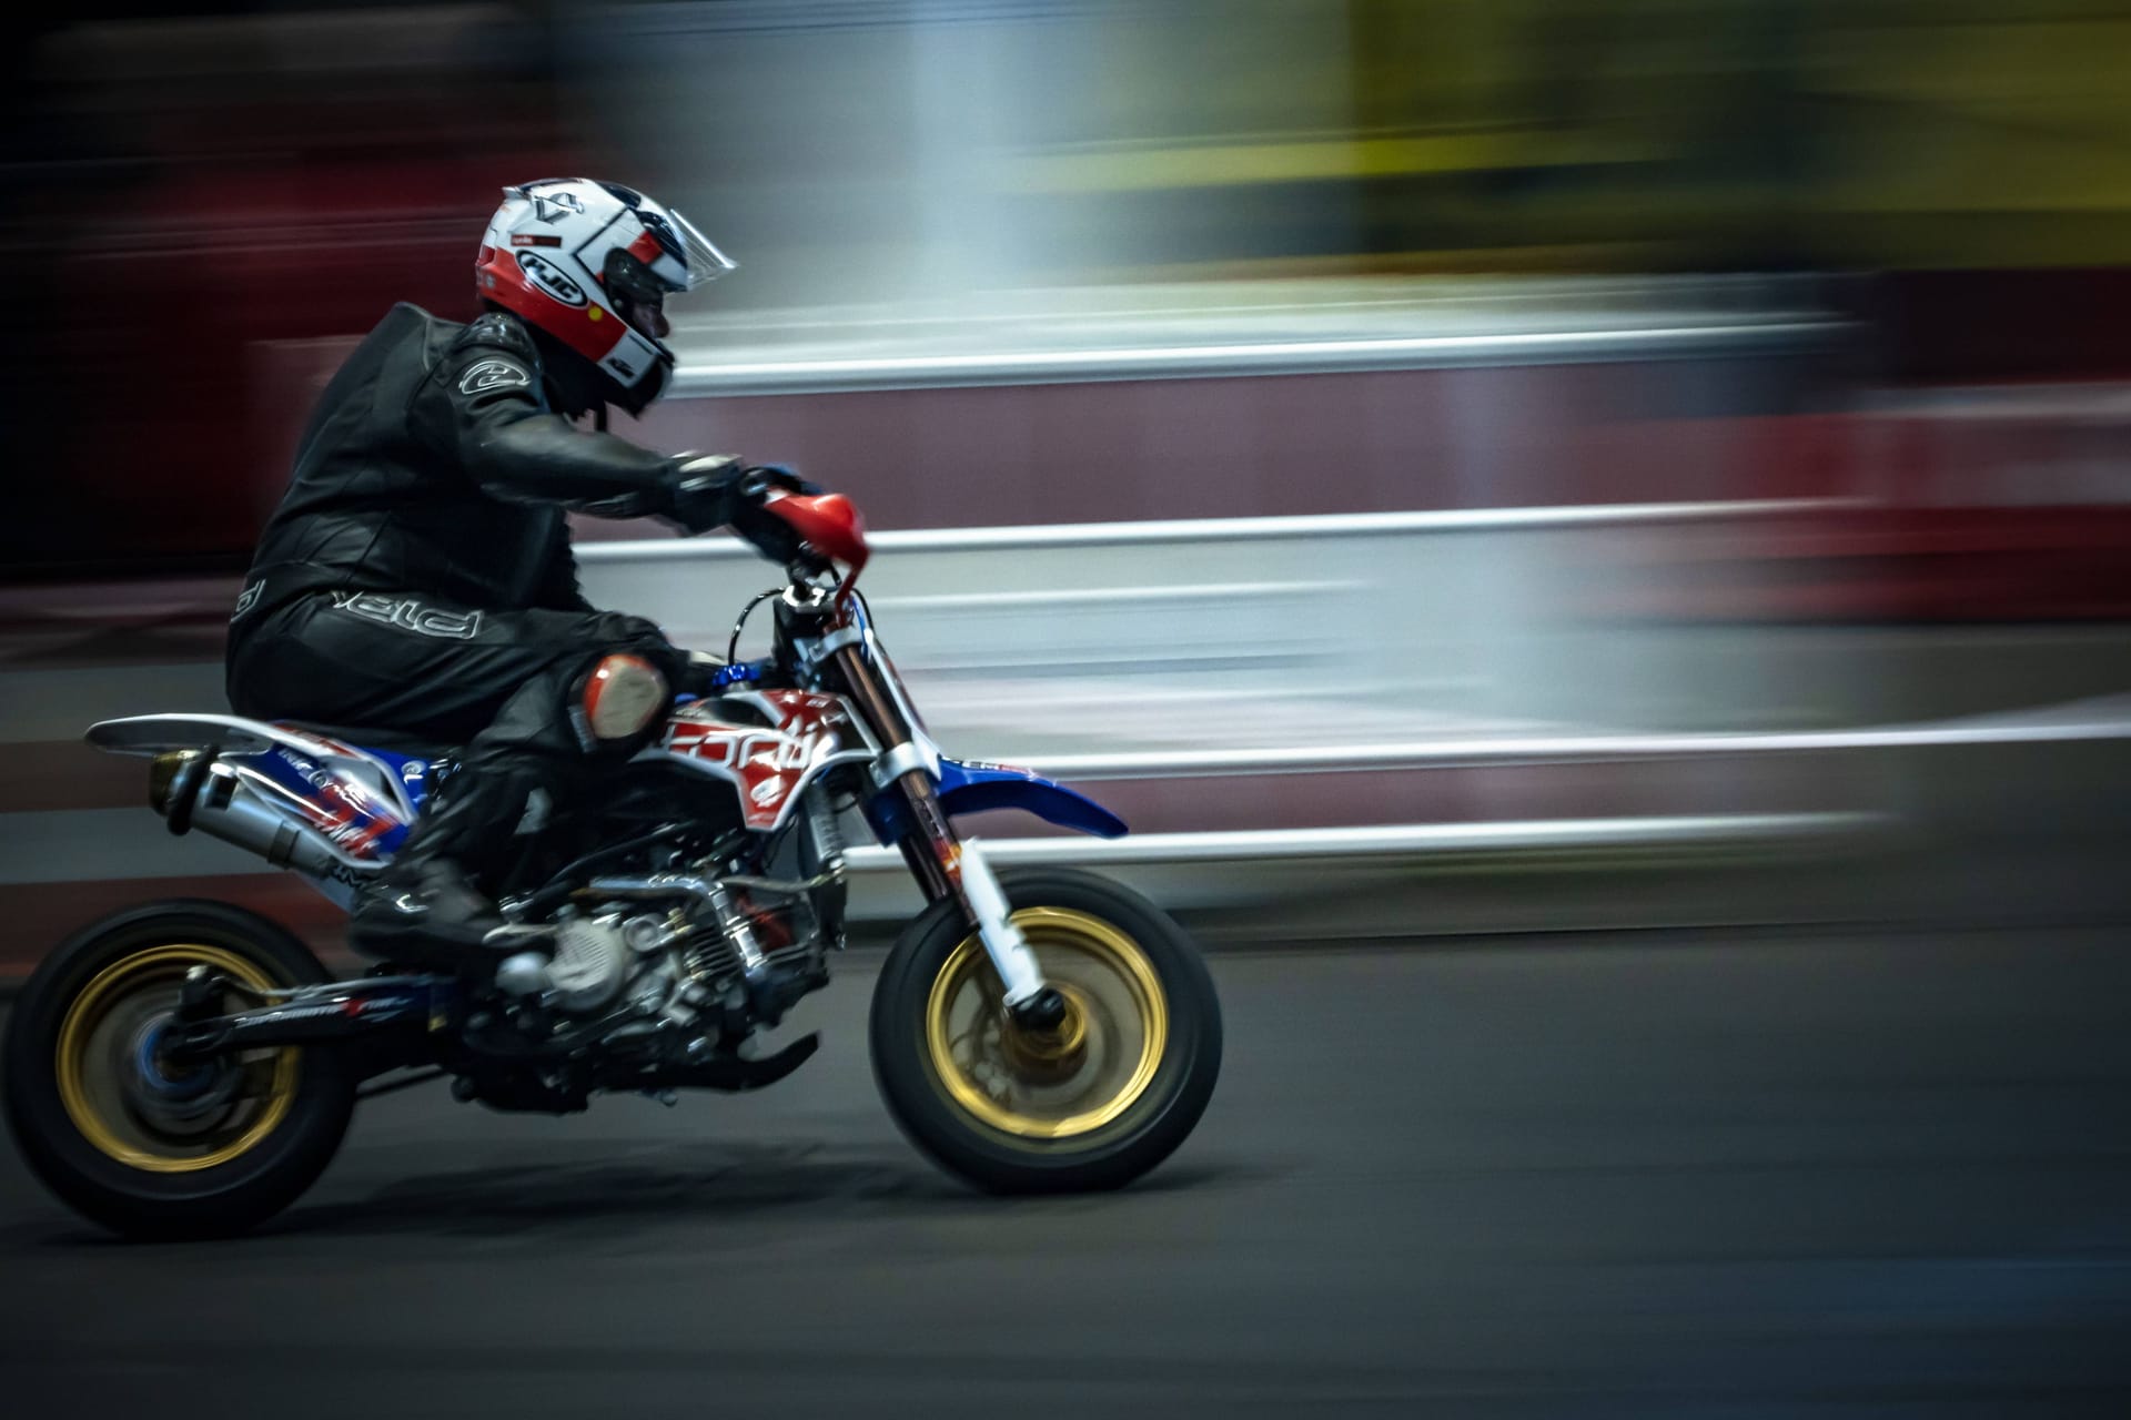
[[507, 187], [475, 264], [484, 313], [398, 304], [326, 385], [237, 598], [230, 705], [465, 743], [356, 905], [358, 952], [484, 971], [514, 830], [639, 749], [686, 683], [656, 626], [584, 600], [567, 511], [731, 524], [793, 556], [752, 498], [765, 470], [605, 432], [607, 404], [639, 415], [673, 373], [665, 298], [731, 266], [618, 183]]

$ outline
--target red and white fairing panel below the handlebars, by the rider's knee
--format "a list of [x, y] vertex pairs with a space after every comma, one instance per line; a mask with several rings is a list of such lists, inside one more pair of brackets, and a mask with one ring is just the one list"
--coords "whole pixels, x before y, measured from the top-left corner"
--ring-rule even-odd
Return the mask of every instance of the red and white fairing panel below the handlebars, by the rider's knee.
[[[761, 711], [771, 724], [729, 720], [735, 705]], [[874, 760], [880, 752], [844, 696], [752, 690], [680, 707], [646, 754], [729, 779], [739, 792], [742, 822], [769, 832], [782, 826], [814, 775], [831, 764]]]

